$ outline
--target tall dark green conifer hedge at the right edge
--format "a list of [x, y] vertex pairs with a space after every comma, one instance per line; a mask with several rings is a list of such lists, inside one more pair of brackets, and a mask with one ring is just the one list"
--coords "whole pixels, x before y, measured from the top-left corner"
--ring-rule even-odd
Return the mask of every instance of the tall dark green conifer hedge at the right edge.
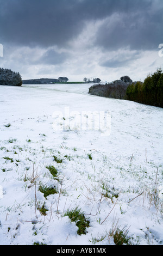
[[127, 100], [146, 105], [163, 107], [163, 73], [156, 70], [148, 75], [144, 82], [131, 83], [127, 88]]

